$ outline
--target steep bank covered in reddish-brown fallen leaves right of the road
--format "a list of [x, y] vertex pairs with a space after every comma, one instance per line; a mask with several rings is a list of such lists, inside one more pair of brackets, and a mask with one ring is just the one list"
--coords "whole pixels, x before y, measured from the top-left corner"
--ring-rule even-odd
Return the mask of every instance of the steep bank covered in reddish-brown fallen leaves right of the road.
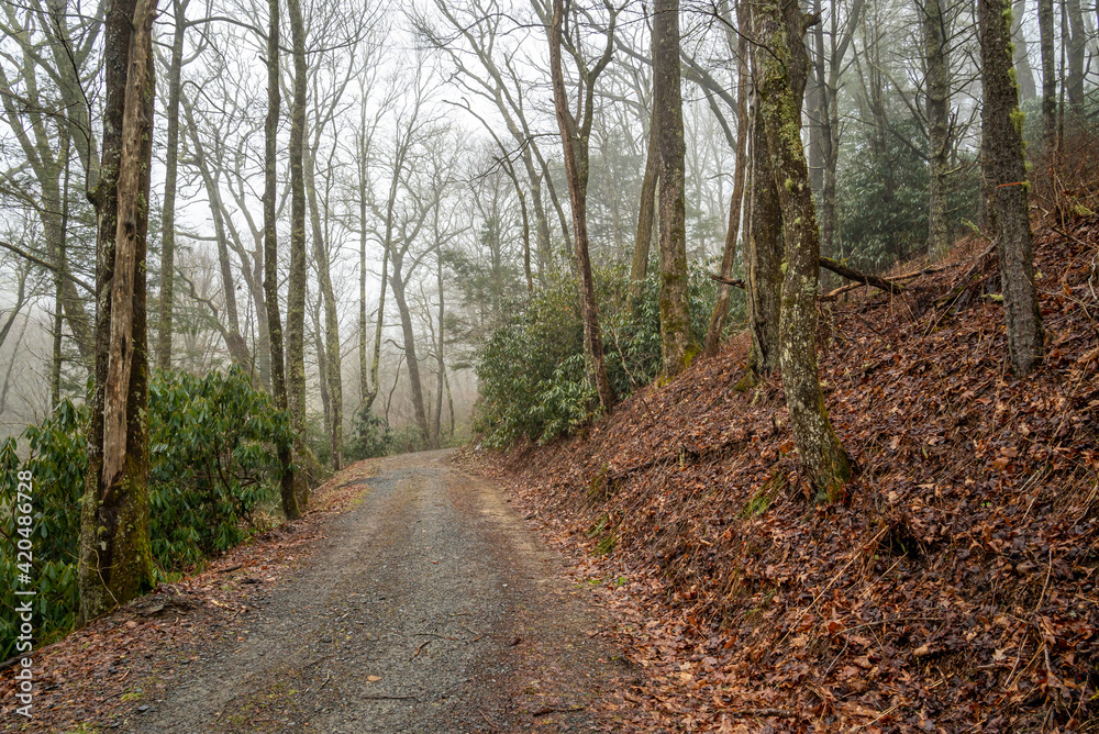
[[743, 337], [587, 435], [466, 460], [614, 579], [669, 724], [1099, 731], [1099, 220], [1037, 232], [1035, 257], [1046, 364], [1023, 380], [992, 257], [822, 304], [861, 468], [834, 505], [799, 479], [778, 380], [734, 390]]

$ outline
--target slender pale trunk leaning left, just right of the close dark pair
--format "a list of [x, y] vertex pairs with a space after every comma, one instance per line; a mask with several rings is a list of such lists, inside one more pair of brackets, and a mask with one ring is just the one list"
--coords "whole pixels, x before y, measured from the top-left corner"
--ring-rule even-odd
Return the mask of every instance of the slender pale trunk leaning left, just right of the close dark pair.
[[[343, 360], [340, 355], [340, 319], [336, 315], [336, 297], [332, 289], [329, 251], [321, 229], [321, 212], [317, 202], [315, 164], [313, 152], [306, 156], [306, 193], [309, 199], [310, 221], [313, 229], [313, 258], [317, 260], [317, 279], [324, 304], [324, 362], [321, 379], [328, 383], [329, 437], [332, 444], [332, 470], [343, 468]], [[318, 322], [320, 327], [320, 322]]]

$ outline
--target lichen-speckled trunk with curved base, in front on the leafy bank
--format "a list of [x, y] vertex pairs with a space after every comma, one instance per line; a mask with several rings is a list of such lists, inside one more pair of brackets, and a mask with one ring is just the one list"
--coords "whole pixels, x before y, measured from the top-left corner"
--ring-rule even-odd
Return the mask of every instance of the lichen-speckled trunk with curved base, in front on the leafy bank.
[[801, 144], [801, 98], [809, 59], [797, 0], [757, 7], [759, 105], [782, 216], [787, 273], [782, 282], [782, 391], [801, 466], [819, 499], [833, 501], [851, 477], [851, 459], [824, 407], [817, 368], [820, 231]]

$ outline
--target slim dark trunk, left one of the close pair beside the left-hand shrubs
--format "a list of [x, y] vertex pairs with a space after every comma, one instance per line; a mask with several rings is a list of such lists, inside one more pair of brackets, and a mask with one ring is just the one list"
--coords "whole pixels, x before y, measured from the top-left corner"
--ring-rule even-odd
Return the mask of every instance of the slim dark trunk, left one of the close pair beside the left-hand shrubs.
[[[278, 231], [276, 202], [278, 197], [277, 149], [279, 93], [279, 0], [268, 0], [267, 26], [267, 116], [264, 120], [264, 304], [267, 312], [268, 344], [271, 364], [271, 393], [280, 411], [289, 412], [286, 396], [286, 369], [282, 354], [282, 316], [278, 310]], [[282, 513], [287, 520], [301, 514], [295, 492], [291, 442], [278, 443], [278, 461]]]

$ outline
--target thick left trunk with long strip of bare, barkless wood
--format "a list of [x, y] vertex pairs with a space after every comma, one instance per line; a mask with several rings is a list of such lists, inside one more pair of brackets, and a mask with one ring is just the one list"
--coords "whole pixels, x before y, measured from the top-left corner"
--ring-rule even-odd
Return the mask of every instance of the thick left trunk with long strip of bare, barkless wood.
[[107, 19], [99, 224], [96, 391], [80, 513], [80, 621], [152, 582], [148, 530], [148, 355], [145, 244], [153, 121], [156, 0], [118, 2]]

